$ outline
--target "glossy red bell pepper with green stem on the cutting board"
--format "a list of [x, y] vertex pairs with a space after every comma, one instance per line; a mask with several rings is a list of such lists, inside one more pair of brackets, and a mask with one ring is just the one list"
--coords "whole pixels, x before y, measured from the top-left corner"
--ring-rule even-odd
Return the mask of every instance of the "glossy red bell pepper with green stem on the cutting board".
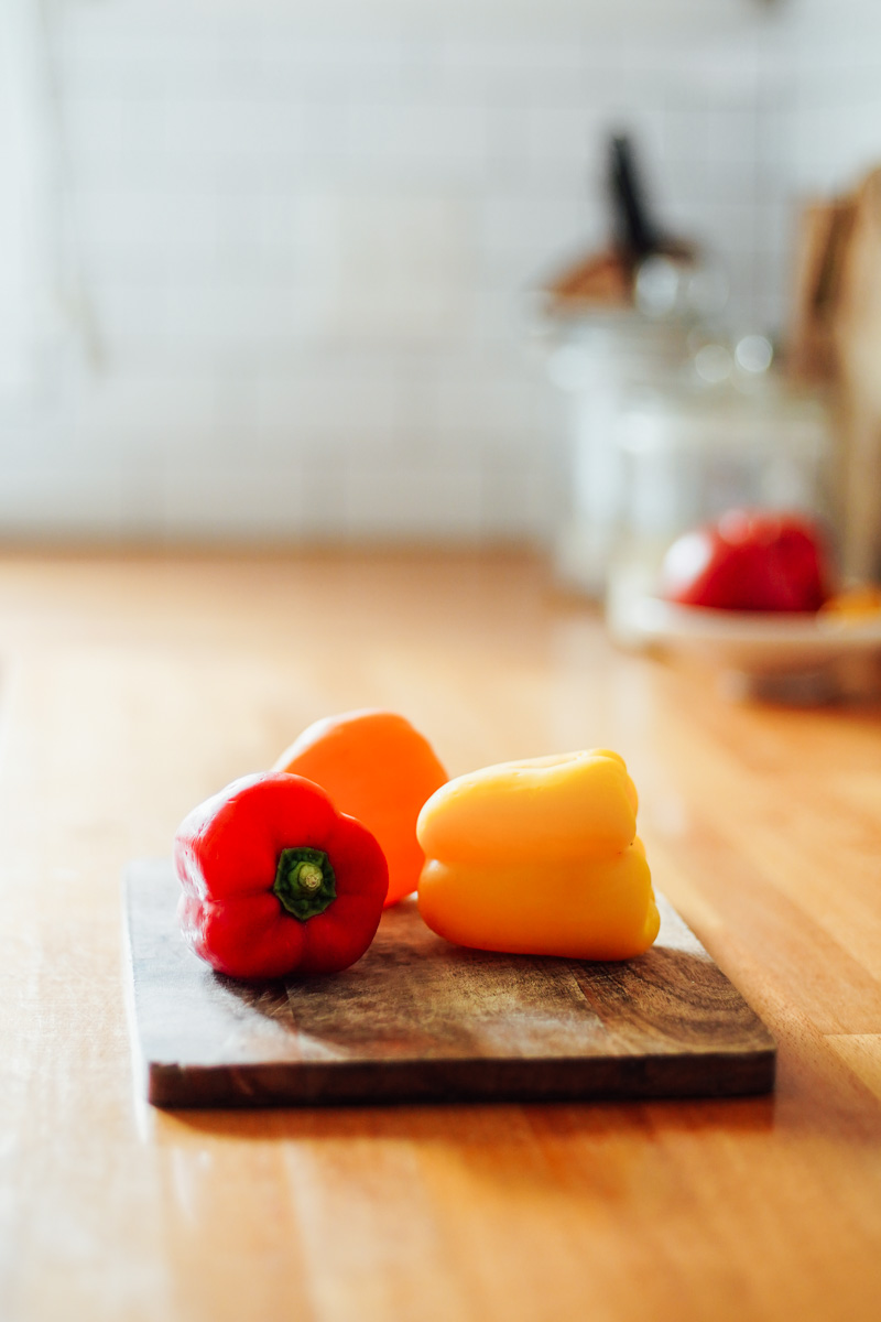
[[244, 776], [194, 808], [174, 867], [185, 940], [235, 978], [349, 968], [375, 936], [388, 887], [370, 832], [281, 772]]

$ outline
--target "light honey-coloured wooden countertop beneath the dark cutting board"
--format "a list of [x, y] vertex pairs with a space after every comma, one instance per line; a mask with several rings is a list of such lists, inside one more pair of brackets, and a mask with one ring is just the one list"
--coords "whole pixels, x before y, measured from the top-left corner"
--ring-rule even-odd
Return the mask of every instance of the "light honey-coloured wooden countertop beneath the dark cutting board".
[[[881, 706], [732, 706], [516, 555], [0, 558], [4, 1322], [863, 1322], [881, 1292]], [[165, 1113], [120, 870], [318, 715], [450, 773], [610, 746], [779, 1042], [736, 1101]]]

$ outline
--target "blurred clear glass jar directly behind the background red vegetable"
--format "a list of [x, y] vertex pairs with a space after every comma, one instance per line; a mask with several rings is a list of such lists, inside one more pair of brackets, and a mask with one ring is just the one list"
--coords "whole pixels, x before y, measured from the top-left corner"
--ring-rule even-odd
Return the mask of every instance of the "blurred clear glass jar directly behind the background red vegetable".
[[617, 442], [621, 498], [606, 584], [606, 620], [633, 646], [634, 605], [656, 591], [680, 533], [728, 509], [799, 510], [833, 527], [833, 444], [822, 395], [767, 370], [761, 336], [733, 352], [697, 349], [687, 382], [631, 393]]

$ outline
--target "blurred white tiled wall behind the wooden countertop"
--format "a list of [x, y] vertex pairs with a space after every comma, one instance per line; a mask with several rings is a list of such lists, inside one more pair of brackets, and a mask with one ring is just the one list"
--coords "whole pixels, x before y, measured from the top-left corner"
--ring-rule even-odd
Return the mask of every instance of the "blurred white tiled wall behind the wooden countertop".
[[881, 156], [881, 28], [844, 8], [54, 0], [98, 357], [71, 329], [38, 415], [0, 416], [0, 525], [547, 534], [524, 292], [604, 241], [609, 130], [729, 267], [732, 317], [779, 324], [794, 193]]

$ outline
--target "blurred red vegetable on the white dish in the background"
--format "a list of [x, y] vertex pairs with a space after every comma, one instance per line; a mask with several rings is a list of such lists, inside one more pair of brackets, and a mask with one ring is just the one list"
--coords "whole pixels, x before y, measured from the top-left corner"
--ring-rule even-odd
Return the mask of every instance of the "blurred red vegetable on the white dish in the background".
[[819, 611], [829, 592], [823, 539], [798, 514], [729, 510], [678, 538], [662, 568], [662, 595], [720, 611]]

